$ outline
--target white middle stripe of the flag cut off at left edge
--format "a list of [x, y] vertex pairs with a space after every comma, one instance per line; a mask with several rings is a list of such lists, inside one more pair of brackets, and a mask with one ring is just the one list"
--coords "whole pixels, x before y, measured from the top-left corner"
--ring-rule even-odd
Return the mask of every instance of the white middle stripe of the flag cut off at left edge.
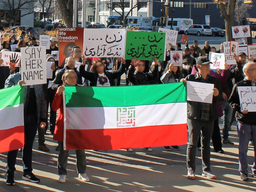
[[24, 125], [23, 110], [23, 103], [0, 109], [0, 130]]

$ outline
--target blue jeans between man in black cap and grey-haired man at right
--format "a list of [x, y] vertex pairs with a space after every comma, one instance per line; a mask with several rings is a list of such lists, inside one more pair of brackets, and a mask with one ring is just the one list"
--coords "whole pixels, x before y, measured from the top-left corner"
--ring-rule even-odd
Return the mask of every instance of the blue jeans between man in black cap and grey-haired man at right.
[[230, 122], [232, 118], [233, 109], [229, 106], [228, 101], [223, 100], [221, 102], [224, 118], [223, 118], [223, 128], [222, 128], [222, 138], [227, 140], [229, 136]]

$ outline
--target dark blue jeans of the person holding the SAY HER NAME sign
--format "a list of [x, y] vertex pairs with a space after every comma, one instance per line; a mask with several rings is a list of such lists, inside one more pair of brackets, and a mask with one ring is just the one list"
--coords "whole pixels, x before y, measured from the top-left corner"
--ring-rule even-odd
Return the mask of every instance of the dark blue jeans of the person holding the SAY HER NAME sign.
[[[27, 115], [24, 118], [24, 134], [25, 134], [25, 144], [22, 150], [22, 162], [23, 162], [23, 172], [32, 172], [32, 147], [35, 140], [37, 131], [37, 119], [36, 115]], [[8, 151], [7, 153], [7, 172], [14, 172], [16, 158], [18, 150]]]

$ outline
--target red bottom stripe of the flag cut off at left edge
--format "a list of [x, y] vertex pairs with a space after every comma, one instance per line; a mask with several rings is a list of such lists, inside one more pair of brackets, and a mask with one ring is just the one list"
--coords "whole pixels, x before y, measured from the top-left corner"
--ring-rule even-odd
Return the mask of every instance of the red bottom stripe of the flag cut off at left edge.
[[0, 130], [0, 153], [23, 148], [24, 126]]

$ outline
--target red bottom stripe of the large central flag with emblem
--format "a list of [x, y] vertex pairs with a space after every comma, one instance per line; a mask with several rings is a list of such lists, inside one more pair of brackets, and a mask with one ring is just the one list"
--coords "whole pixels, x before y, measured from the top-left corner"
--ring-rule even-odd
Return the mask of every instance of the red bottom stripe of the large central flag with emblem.
[[124, 129], [66, 130], [66, 149], [115, 150], [126, 148], [184, 145], [187, 124]]

